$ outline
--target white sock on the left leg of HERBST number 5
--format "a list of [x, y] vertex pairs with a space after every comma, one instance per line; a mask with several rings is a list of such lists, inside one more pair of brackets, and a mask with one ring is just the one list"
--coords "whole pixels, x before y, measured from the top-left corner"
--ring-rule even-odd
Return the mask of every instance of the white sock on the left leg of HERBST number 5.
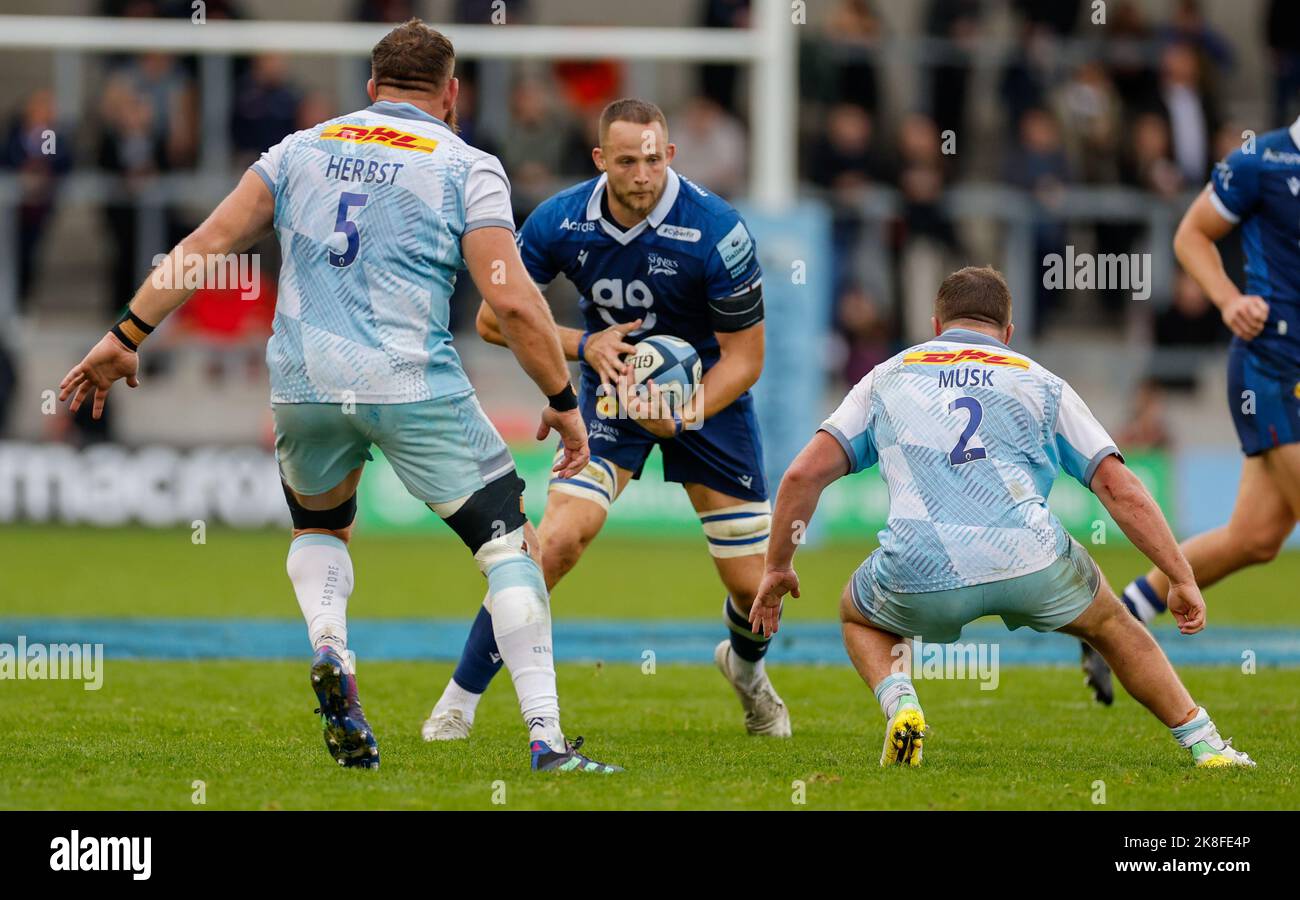
[[289, 545], [285, 570], [307, 620], [312, 650], [329, 644], [347, 659], [347, 598], [352, 594], [347, 545], [333, 535], [299, 535]]

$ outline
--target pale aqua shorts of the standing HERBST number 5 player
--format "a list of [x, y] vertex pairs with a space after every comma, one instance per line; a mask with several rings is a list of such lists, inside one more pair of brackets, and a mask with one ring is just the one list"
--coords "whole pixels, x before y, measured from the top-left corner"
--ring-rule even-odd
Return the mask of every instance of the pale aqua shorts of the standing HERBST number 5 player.
[[473, 390], [415, 403], [272, 403], [276, 459], [299, 494], [322, 494], [384, 451], [406, 489], [425, 503], [474, 493], [514, 471], [515, 459]]

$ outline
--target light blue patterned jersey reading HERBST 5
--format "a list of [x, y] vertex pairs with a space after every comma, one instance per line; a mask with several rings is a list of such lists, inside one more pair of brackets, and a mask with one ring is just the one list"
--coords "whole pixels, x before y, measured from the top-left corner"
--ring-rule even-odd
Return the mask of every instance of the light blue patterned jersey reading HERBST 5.
[[514, 233], [497, 157], [408, 103], [296, 131], [252, 165], [283, 256], [272, 402], [410, 403], [471, 389], [448, 300], [476, 228]]

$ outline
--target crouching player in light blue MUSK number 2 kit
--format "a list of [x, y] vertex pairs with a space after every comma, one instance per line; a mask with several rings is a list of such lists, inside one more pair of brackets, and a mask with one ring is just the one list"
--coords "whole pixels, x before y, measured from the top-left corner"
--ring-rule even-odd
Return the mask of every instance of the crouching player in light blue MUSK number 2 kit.
[[868, 372], [785, 472], [772, 533], [786, 537], [768, 545], [754, 629], [774, 633], [781, 598], [800, 596], [797, 542], [788, 536], [803, 533], [827, 485], [879, 464], [889, 519], [880, 548], [844, 589], [840, 620], [849, 658], [885, 714], [880, 765], [922, 760], [926, 717], [909, 675], [910, 641], [953, 642], [968, 622], [998, 615], [1008, 628], [1088, 641], [1197, 766], [1253, 766], [1219, 737], [1156, 639], [1048, 509], [1062, 470], [1091, 488], [1169, 577], [1169, 609], [1183, 633], [1205, 626], [1192, 567], [1110, 436], [1070, 385], [1008, 346], [1014, 326], [1002, 276], [950, 274], [933, 326], [933, 341]]

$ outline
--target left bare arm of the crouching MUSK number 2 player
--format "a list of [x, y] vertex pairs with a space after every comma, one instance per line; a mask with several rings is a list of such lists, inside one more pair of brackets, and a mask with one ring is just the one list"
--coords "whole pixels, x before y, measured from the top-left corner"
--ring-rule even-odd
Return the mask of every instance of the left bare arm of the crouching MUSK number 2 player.
[[767, 636], [780, 626], [781, 598], [800, 596], [800, 579], [794, 574], [794, 551], [803, 542], [822, 492], [836, 479], [849, 473], [849, 458], [840, 442], [827, 432], [818, 432], [800, 451], [781, 476], [772, 510], [772, 532], [767, 544], [767, 571], [758, 596], [750, 607], [750, 627]]

